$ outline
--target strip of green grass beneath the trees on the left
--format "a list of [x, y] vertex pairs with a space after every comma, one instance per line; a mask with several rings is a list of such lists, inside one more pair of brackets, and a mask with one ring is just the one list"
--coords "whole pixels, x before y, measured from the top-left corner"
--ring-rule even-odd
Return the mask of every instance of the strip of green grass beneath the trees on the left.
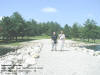
[[22, 42], [27, 42], [27, 41], [32, 41], [32, 40], [40, 40], [40, 39], [49, 39], [50, 36], [47, 35], [42, 35], [42, 36], [31, 36], [31, 37], [27, 37], [25, 36], [23, 38], [23, 40], [21, 39], [21, 37], [18, 37], [18, 41], [15, 40], [11, 40], [11, 41], [4, 41], [4, 40], [0, 40], [0, 47], [6, 47], [6, 46], [19, 46], [21, 45]]

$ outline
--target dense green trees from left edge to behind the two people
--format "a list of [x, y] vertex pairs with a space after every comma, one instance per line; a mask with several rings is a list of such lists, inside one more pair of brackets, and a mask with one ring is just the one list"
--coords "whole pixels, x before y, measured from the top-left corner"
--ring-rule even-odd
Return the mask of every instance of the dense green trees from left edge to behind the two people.
[[57, 22], [37, 23], [34, 19], [30, 21], [18, 13], [14, 12], [11, 16], [4, 16], [0, 21], [0, 37], [3, 40], [18, 40], [24, 36], [51, 35], [53, 31], [61, 30]]

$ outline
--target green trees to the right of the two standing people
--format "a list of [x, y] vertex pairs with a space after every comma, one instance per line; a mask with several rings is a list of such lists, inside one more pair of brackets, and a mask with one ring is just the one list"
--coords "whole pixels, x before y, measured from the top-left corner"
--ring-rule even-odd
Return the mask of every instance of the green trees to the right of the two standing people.
[[68, 24], [64, 27], [64, 32], [68, 38], [80, 38], [81, 40], [87, 39], [88, 42], [96, 39], [100, 39], [100, 26], [93, 19], [87, 19], [83, 25], [74, 23], [71, 26]]

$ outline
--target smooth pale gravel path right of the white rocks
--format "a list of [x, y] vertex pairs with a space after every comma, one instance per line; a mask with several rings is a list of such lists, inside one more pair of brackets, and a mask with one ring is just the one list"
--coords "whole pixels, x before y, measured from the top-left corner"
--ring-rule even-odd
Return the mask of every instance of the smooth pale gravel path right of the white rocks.
[[[100, 57], [66, 48], [66, 51], [51, 51], [49, 39], [40, 40], [43, 44], [35, 75], [100, 75]], [[66, 42], [70, 42], [67, 40]]]

